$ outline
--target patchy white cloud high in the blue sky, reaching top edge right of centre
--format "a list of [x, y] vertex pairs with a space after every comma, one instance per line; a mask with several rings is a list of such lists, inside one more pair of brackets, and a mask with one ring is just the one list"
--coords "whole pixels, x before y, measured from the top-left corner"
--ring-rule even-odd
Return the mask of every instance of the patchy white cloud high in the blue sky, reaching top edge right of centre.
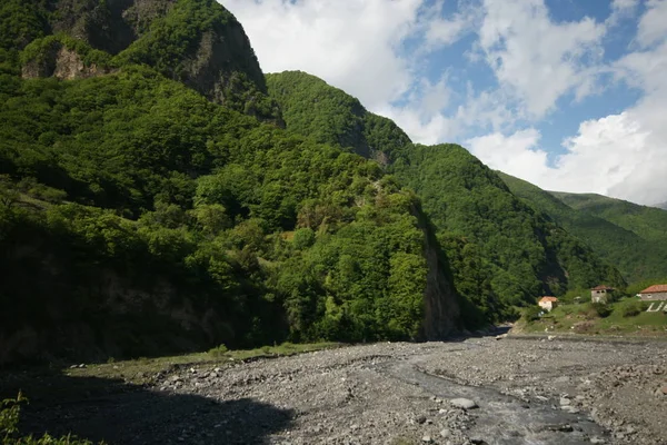
[[541, 118], [564, 95], [580, 99], [599, 73], [606, 28], [590, 18], [555, 23], [542, 0], [485, 0], [479, 46], [501, 88]]

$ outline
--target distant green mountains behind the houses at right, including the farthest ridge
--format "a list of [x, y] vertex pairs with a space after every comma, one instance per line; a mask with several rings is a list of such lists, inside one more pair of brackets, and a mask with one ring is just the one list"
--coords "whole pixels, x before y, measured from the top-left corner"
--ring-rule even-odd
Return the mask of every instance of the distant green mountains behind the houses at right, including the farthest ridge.
[[617, 266], [628, 281], [665, 276], [667, 253], [661, 243], [667, 239], [655, 230], [665, 227], [665, 221], [660, 221], [661, 210], [654, 212], [644, 206], [599, 195], [546, 191], [512, 176], [498, 175], [516, 196]]

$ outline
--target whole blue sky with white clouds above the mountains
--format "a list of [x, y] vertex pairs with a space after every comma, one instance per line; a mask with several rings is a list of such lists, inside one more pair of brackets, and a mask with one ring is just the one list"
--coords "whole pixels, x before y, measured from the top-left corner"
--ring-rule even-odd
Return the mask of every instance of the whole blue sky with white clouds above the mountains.
[[667, 201], [667, 0], [219, 0], [416, 142], [547, 190]]

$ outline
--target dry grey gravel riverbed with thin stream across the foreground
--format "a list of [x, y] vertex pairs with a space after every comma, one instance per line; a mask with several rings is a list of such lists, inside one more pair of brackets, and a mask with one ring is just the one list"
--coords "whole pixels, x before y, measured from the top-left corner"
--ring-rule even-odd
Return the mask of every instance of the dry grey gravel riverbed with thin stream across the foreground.
[[37, 399], [22, 426], [110, 444], [667, 444], [665, 346], [485, 337], [207, 363]]

